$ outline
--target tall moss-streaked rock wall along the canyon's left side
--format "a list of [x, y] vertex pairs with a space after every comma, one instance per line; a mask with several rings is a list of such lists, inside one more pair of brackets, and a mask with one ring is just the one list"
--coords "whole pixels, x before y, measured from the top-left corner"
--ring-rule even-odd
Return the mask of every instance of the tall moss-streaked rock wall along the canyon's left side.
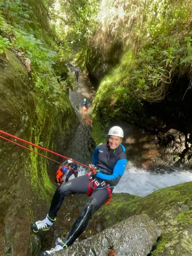
[[[42, 141], [44, 147], [62, 154], [76, 120], [68, 96], [63, 96], [66, 104], [59, 111], [48, 108], [30, 87], [25, 66], [6, 50], [6, 56], [0, 55], [0, 129], [37, 145]], [[49, 164], [0, 139], [0, 255], [38, 255], [41, 244], [31, 235], [30, 223], [44, 219], [49, 211], [55, 191]], [[44, 237], [52, 241], [53, 232]]]

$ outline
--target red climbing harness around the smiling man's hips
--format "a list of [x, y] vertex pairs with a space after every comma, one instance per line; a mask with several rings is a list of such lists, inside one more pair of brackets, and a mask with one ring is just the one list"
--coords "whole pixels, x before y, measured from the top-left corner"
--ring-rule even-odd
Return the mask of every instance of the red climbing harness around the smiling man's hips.
[[86, 175], [89, 176], [89, 185], [88, 185], [88, 190], [87, 190], [87, 196], [91, 196], [91, 194], [94, 192], [94, 190], [97, 189], [98, 186], [105, 186], [103, 187], [103, 189], [107, 189], [107, 191], [109, 192], [109, 197], [108, 197], [108, 200], [105, 202], [105, 205], [107, 203], [109, 203], [111, 201], [111, 198], [112, 198], [112, 193], [111, 193], [111, 189], [106, 186], [106, 182], [105, 181], [102, 181], [101, 183], [99, 183], [96, 179], [93, 179], [92, 178], [92, 172], [89, 172], [87, 173]]

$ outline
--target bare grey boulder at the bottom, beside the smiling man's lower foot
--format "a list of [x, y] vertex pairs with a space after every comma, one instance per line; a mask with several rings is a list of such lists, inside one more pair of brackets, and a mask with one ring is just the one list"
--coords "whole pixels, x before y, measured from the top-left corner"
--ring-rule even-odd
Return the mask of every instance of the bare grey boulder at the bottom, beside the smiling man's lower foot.
[[161, 231], [147, 215], [135, 215], [55, 255], [123, 256], [149, 254]]

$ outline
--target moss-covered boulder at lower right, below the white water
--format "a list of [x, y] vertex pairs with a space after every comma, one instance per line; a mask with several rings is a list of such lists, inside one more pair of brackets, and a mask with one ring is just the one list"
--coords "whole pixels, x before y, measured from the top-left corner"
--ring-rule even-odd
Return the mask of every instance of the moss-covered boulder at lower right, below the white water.
[[93, 216], [89, 228], [97, 223], [97, 231], [101, 231], [135, 214], [147, 214], [162, 230], [151, 256], [191, 255], [192, 182], [163, 188], [145, 197], [115, 194], [111, 203]]

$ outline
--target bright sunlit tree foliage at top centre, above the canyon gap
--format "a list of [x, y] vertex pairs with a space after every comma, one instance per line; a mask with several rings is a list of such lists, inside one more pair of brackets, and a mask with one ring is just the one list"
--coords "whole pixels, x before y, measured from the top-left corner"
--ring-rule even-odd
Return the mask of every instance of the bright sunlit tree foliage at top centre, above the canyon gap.
[[[60, 9], [55, 15], [55, 27], [61, 40], [67, 39], [73, 49], [87, 42], [97, 25], [98, 1], [60, 0]], [[55, 10], [54, 10], [55, 12]]]

